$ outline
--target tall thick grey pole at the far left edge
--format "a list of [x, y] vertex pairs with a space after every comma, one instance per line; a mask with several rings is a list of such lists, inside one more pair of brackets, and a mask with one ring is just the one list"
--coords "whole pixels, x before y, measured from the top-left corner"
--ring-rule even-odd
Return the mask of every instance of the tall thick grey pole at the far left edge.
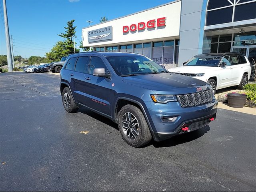
[[8, 26], [8, 18], [7, 18], [7, 10], [6, 10], [6, 0], [3, 0], [4, 6], [4, 28], [5, 28], [5, 37], [6, 37], [6, 49], [7, 49], [7, 64], [8, 71], [11, 72], [12, 68], [12, 51], [10, 45], [10, 34], [9, 34], [9, 26]]

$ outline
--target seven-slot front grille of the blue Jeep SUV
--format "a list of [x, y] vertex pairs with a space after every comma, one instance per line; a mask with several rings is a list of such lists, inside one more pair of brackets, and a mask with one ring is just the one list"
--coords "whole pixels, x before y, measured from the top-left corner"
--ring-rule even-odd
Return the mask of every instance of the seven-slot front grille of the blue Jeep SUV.
[[177, 95], [177, 97], [182, 107], [200, 105], [211, 102], [214, 99], [212, 90], [192, 94]]

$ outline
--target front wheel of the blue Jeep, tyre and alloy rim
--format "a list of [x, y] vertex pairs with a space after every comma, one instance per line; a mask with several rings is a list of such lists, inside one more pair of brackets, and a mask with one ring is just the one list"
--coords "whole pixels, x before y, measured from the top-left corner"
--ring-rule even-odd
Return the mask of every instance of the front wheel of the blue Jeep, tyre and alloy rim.
[[133, 147], [141, 147], [152, 140], [146, 119], [139, 108], [124, 106], [118, 113], [118, 128], [123, 140]]

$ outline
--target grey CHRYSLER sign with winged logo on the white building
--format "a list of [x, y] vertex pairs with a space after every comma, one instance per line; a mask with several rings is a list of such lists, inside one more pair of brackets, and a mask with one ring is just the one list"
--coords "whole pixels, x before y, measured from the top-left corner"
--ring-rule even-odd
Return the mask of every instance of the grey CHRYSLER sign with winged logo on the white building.
[[112, 26], [88, 31], [88, 42], [100, 42], [112, 39]]

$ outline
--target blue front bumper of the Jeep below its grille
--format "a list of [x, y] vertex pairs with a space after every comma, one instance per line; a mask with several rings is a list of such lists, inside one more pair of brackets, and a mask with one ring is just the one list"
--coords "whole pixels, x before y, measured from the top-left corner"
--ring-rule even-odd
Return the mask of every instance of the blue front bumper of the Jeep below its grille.
[[[212, 100], [207, 104], [182, 108], [178, 102], [169, 102], [159, 104], [145, 102], [150, 114], [150, 125], [153, 130], [153, 137], [156, 141], [166, 140], [172, 136], [180, 134], [182, 127], [188, 127], [186, 132], [194, 131], [201, 128], [201, 124], [206, 126], [210, 123], [210, 118], [216, 117], [218, 101]], [[174, 122], [164, 122], [163, 117], [177, 117]], [[207, 122], [209, 120], [209, 122]], [[190, 126], [198, 122], [197, 126]], [[202, 123], [200, 123], [202, 122]], [[195, 125], [195, 124], [193, 124]]]

